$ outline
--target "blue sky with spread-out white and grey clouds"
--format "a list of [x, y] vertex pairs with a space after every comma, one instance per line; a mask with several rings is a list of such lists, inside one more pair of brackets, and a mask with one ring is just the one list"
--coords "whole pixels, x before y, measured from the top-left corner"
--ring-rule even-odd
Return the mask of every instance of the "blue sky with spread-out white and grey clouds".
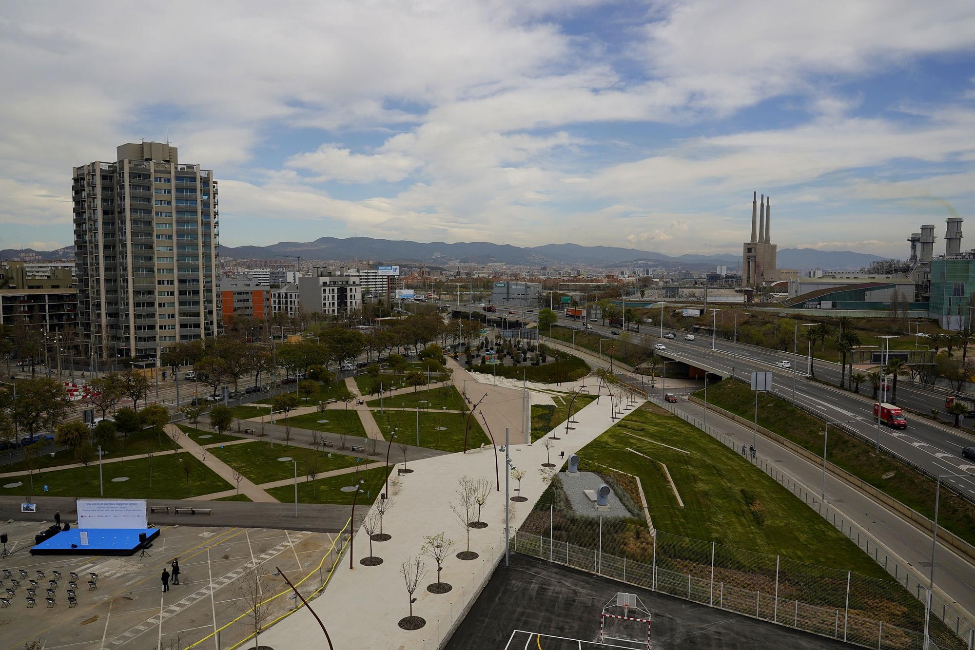
[[740, 254], [758, 191], [779, 249], [903, 258], [975, 206], [970, 0], [9, 3], [0, 59], [0, 249], [140, 139], [224, 246]]

